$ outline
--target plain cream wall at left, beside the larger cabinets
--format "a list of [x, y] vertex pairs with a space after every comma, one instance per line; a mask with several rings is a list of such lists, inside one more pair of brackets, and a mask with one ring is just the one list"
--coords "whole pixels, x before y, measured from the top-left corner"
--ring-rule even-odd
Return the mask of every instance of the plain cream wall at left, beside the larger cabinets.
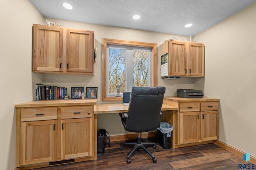
[[14, 105], [32, 100], [32, 23], [44, 20], [29, 0], [1, 0], [0, 6], [0, 166], [13, 170]]

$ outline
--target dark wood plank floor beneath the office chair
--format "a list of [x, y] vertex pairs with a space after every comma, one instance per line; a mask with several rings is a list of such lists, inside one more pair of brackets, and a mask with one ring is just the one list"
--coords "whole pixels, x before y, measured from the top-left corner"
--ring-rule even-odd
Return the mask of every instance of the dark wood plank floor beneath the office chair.
[[238, 164], [245, 163], [239, 156], [214, 144], [163, 149], [157, 143], [156, 149], [148, 148], [156, 156], [157, 163], [153, 163], [152, 158], [140, 149], [131, 156], [132, 162], [127, 164], [126, 155], [131, 148], [120, 150], [120, 143], [112, 142], [111, 147], [106, 148], [104, 155], [98, 156], [97, 160], [36, 170], [237, 170]]

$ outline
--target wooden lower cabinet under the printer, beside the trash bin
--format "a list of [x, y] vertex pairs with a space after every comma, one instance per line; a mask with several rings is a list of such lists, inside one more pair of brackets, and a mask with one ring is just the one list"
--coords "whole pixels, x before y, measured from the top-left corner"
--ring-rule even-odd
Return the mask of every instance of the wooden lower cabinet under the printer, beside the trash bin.
[[179, 106], [178, 145], [218, 139], [218, 102], [182, 102]]

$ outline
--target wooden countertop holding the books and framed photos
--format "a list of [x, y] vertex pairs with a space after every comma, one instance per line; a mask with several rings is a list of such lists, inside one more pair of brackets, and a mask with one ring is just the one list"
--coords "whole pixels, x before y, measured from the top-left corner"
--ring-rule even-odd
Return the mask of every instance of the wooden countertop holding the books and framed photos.
[[16, 108], [20, 107], [50, 107], [50, 106], [86, 106], [95, 105], [97, 99], [62, 99], [62, 100], [39, 100], [16, 104]]

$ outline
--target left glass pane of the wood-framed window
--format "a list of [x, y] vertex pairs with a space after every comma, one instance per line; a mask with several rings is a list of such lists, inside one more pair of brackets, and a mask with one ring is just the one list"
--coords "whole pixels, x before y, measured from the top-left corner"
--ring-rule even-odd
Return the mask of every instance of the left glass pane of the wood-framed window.
[[109, 48], [108, 94], [126, 91], [126, 49]]

